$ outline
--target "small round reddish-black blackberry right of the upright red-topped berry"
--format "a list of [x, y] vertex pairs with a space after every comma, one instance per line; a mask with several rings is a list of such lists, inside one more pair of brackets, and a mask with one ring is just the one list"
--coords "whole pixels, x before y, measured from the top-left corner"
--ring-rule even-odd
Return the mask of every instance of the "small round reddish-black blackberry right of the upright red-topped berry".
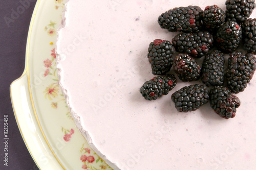
[[201, 67], [188, 54], [179, 54], [174, 59], [174, 71], [183, 82], [199, 80]]

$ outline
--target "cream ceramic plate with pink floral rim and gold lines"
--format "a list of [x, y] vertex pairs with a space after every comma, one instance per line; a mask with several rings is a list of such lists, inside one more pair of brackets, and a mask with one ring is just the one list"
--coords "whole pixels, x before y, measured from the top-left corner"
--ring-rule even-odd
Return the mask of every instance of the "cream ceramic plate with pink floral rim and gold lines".
[[[38, 0], [22, 77], [11, 84], [20, 133], [40, 169], [111, 169], [76, 128], [58, 84], [55, 42], [66, 0]], [[87, 158], [87, 161], [82, 161]]]

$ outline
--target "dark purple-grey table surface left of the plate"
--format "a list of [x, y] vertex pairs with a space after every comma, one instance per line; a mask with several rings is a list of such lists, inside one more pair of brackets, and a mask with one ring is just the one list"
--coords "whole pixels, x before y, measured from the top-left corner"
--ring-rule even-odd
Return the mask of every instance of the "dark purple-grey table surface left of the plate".
[[[13, 11], [25, 10], [14, 16]], [[10, 84], [25, 66], [26, 41], [36, 0], [0, 0], [0, 169], [38, 169], [20, 135], [10, 99]], [[8, 166], [4, 165], [4, 115], [8, 115]]]

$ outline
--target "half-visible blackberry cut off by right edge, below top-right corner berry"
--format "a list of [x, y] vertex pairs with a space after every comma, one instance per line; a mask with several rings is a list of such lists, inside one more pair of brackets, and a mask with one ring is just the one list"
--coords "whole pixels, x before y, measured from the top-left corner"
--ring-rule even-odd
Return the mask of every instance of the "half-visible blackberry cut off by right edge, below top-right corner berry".
[[256, 18], [249, 18], [242, 24], [243, 48], [248, 53], [256, 54]]

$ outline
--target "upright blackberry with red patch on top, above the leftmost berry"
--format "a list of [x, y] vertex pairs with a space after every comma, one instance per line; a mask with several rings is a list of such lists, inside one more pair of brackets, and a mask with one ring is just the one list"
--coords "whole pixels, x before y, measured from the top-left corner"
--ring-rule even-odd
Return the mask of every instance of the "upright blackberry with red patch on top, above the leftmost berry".
[[153, 75], [165, 75], [173, 65], [175, 48], [170, 41], [155, 39], [148, 47], [148, 62]]

